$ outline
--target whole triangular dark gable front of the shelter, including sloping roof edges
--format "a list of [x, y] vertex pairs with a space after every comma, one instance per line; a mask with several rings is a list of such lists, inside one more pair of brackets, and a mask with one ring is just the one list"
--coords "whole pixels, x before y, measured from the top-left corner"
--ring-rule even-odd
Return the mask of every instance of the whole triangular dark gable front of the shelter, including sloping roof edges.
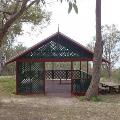
[[18, 59], [93, 59], [93, 52], [76, 43], [71, 38], [56, 33], [44, 41], [36, 44], [20, 55], [12, 58], [8, 63]]

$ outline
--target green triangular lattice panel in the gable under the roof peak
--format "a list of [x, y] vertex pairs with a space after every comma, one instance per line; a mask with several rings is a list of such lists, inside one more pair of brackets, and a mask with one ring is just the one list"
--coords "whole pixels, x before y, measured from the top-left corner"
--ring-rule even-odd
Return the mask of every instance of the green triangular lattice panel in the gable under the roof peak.
[[30, 53], [22, 56], [24, 58], [88, 58], [84, 51], [78, 52], [67, 44], [50, 41]]

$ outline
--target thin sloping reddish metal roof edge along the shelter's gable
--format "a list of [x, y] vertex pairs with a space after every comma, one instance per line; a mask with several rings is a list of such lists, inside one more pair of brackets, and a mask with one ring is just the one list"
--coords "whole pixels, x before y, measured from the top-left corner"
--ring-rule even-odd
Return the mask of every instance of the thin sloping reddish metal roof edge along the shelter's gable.
[[[28, 48], [27, 50], [23, 51], [22, 53], [17, 54], [16, 56], [14, 56], [14, 57], [11, 58], [10, 60], [8, 60], [8, 61], [6, 62], [6, 64], [9, 64], [9, 63], [11, 63], [11, 62], [14, 62], [14, 61], [16, 61], [18, 58], [20, 58], [22, 55], [31, 52], [32, 50], [36, 49], [37, 47], [39, 47], [39, 46], [42, 45], [42, 44], [46, 44], [47, 42], [49, 42], [49, 40], [51, 40], [52, 37], [54, 37], [54, 36], [56, 36], [56, 35], [61, 35], [62, 37], [66, 38], [69, 42], [71, 42], [72, 44], [74, 44], [75, 46], [78, 46], [78, 47], [84, 49], [85, 51], [87, 51], [87, 52], [90, 53], [90, 54], [94, 54], [93, 51], [91, 51], [91, 50], [89, 50], [88, 48], [84, 47], [83, 45], [81, 45], [80, 43], [78, 43], [78, 42], [76, 42], [75, 40], [71, 39], [70, 37], [64, 35], [64, 34], [61, 33], [61, 32], [56, 32], [56, 33], [54, 33], [53, 35], [51, 35], [51, 36], [47, 37], [46, 39], [42, 40], [41, 42], [39, 42], [39, 43], [35, 44], [34, 46]], [[109, 61], [106, 60], [106, 59], [104, 59], [104, 58], [103, 58], [103, 61], [109, 63]]]

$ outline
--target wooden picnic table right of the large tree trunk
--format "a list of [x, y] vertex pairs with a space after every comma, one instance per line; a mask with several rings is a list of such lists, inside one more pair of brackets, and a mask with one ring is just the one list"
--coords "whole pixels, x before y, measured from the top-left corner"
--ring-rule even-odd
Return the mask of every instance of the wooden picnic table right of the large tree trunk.
[[100, 82], [103, 88], [107, 88], [109, 93], [120, 92], [120, 84], [115, 82]]

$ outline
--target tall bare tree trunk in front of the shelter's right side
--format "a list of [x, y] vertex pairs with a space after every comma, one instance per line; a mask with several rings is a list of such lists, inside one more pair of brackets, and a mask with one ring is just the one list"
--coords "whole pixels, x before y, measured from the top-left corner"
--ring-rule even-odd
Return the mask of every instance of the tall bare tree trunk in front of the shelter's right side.
[[101, 0], [96, 0], [96, 43], [93, 58], [93, 73], [90, 86], [86, 92], [86, 99], [90, 100], [98, 95], [102, 64], [103, 43], [101, 36]]

